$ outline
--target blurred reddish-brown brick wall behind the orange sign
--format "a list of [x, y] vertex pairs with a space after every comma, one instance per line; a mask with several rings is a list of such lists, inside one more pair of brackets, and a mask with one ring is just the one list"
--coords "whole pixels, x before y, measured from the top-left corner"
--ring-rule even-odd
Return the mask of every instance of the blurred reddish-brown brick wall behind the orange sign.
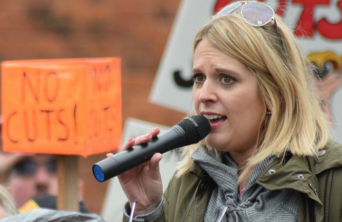
[[[185, 114], [150, 104], [148, 96], [179, 1], [1, 0], [0, 61], [121, 57], [123, 121], [172, 126]], [[95, 213], [107, 182], [95, 181], [91, 167], [104, 158], [80, 157], [85, 204]]]

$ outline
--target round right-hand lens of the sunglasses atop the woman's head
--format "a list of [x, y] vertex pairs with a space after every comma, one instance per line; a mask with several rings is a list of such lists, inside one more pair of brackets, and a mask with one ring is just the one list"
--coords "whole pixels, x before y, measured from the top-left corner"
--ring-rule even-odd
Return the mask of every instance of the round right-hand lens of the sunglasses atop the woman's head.
[[265, 4], [249, 2], [242, 7], [243, 19], [253, 26], [262, 26], [274, 18], [274, 11]]

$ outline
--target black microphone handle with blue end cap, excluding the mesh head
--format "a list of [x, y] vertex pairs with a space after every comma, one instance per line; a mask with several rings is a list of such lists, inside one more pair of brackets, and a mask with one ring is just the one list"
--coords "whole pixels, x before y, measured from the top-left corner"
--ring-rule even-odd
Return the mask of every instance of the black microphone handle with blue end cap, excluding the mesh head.
[[104, 182], [149, 161], [155, 153], [165, 153], [185, 145], [187, 145], [185, 131], [179, 125], [175, 125], [148, 143], [133, 146], [95, 163], [93, 174], [96, 180]]

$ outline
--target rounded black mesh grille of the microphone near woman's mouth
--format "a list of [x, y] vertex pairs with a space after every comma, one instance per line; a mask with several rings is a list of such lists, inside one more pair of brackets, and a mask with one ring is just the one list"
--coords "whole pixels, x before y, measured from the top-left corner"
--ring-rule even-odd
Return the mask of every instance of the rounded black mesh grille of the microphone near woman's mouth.
[[177, 125], [185, 132], [187, 144], [203, 140], [210, 133], [210, 123], [204, 116], [192, 116], [180, 121]]

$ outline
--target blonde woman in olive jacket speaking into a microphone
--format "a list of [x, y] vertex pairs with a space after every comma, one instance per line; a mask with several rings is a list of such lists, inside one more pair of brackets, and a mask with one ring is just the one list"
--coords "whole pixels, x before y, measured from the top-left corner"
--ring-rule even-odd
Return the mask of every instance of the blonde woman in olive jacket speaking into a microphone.
[[145, 222], [340, 221], [342, 146], [329, 141], [309, 64], [267, 5], [218, 12], [193, 45], [194, 107], [211, 132], [184, 149], [164, 194], [161, 154], [118, 176], [124, 220], [132, 206], [133, 221]]

